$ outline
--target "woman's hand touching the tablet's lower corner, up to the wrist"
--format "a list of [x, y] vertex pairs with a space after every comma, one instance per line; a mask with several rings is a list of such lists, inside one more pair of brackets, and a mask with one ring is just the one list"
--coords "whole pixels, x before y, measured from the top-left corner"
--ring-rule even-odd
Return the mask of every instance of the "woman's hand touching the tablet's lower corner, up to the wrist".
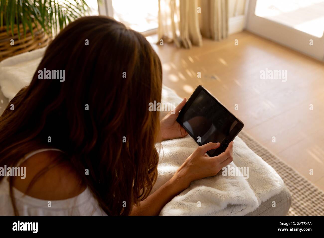
[[233, 161], [233, 142], [220, 155], [210, 157], [207, 151], [217, 149], [220, 143], [207, 143], [199, 146], [180, 166], [172, 177], [182, 189], [189, 187], [194, 180], [215, 176], [223, 167]]

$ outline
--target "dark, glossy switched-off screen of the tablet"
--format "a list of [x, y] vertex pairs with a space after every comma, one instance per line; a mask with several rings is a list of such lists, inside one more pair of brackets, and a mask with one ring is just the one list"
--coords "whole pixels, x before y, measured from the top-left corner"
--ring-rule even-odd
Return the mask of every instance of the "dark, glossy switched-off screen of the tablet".
[[204, 90], [200, 91], [183, 115], [183, 126], [191, 132], [196, 141], [200, 136], [201, 144], [222, 143], [236, 124], [237, 120]]

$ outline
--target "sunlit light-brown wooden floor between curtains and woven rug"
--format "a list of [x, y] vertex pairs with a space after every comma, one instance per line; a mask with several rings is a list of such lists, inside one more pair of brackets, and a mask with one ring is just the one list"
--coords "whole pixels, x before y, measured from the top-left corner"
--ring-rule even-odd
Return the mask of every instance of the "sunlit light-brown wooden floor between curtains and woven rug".
[[[246, 31], [221, 42], [204, 40], [191, 50], [154, 48], [166, 86], [189, 97], [203, 85], [244, 122], [243, 130], [324, 191], [322, 62]], [[287, 81], [260, 79], [266, 68], [286, 70]]]

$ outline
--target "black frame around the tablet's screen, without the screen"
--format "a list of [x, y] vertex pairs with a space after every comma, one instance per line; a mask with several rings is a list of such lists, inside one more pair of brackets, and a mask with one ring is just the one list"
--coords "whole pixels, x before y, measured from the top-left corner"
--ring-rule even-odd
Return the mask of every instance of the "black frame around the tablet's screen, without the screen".
[[[224, 152], [228, 146], [228, 143], [233, 141], [234, 138], [237, 136], [237, 134], [242, 130], [242, 128], [244, 127], [243, 122], [238, 119], [233, 113], [231, 113], [220, 101], [217, 100], [217, 98], [215, 98], [210, 92], [208, 92], [207, 89], [205, 89], [202, 85], [199, 85], [195, 91], [193, 92], [193, 94], [189, 97], [187, 103], [184, 105], [184, 107], [181, 109], [181, 111], [179, 112], [177, 121], [179, 122], [179, 124], [188, 132], [188, 134], [199, 144], [199, 146], [203, 145], [201, 142], [197, 141], [197, 138], [194, 137], [194, 135], [183, 125], [183, 116], [184, 113], [188, 110], [188, 108], [191, 107], [191, 104], [193, 103], [193, 101], [196, 99], [196, 97], [199, 95], [199, 93], [201, 91], [204, 91], [206, 93], [206, 95], [208, 95], [209, 97], [211, 97], [217, 104], [219, 104], [221, 107], [223, 107], [224, 109], [226, 109], [226, 111], [228, 112], [228, 114], [230, 116], [232, 116], [236, 121], [237, 124], [234, 126], [234, 128], [229, 132], [229, 135], [222, 141], [220, 142], [221, 145], [214, 151], [213, 154], [207, 152], [207, 154], [211, 157], [219, 155], [220, 153]], [[218, 142], [218, 141], [215, 141]]]

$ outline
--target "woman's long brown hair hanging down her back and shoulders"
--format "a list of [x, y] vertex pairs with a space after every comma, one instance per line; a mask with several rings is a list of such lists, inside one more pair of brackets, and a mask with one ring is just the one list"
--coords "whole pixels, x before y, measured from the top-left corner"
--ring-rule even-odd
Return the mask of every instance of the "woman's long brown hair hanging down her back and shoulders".
[[[39, 79], [44, 68], [65, 70], [64, 82]], [[161, 62], [140, 33], [108, 17], [79, 18], [48, 46], [30, 85], [9, 103], [14, 110], [1, 116], [0, 166], [60, 149], [108, 215], [128, 215], [156, 180], [159, 113], [148, 105], [161, 101], [161, 89]], [[10, 190], [17, 214], [11, 179]]]

